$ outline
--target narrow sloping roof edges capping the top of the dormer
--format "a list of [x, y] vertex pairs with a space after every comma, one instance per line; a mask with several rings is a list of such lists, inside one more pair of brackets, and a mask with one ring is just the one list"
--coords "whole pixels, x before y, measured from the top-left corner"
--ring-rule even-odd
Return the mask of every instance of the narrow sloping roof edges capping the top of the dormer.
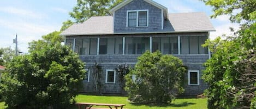
[[[124, 5], [127, 5], [128, 3], [132, 2], [133, 0], [126, 0], [126, 1], [123, 1], [121, 2], [120, 4], [116, 5], [114, 8], [110, 9], [109, 12], [111, 15], [114, 14], [114, 12], [122, 7], [124, 7]], [[150, 3], [152, 4], [154, 7], [157, 7], [159, 9], [162, 9], [163, 12], [164, 12], [164, 18], [165, 19], [168, 19], [168, 8], [164, 7], [162, 4], [159, 4], [157, 2], [154, 2], [152, 0], [144, 0], [145, 2], [147, 3]]]

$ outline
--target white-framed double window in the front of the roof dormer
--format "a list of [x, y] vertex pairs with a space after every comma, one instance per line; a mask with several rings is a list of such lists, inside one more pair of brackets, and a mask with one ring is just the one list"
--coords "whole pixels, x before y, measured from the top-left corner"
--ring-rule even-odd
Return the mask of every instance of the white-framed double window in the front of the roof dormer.
[[127, 11], [127, 27], [147, 27], [148, 10]]

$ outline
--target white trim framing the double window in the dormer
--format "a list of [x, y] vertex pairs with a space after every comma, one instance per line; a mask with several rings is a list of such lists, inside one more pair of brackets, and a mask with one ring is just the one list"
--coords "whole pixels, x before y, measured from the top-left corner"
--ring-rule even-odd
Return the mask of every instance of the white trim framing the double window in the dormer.
[[[139, 26], [139, 12], [140, 11], [147, 11], [147, 25], [146, 26]], [[126, 27], [129, 27], [128, 26], [128, 13], [129, 12], [136, 12], [136, 26], [135, 27], [148, 27], [148, 10], [127, 10], [127, 13], [126, 13]]]

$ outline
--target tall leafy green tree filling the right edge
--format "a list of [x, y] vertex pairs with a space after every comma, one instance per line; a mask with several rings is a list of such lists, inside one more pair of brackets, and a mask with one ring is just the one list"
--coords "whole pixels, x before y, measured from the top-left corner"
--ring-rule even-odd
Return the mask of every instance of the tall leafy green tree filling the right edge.
[[211, 17], [230, 15], [231, 22], [241, 24], [236, 36], [205, 44], [213, 53], [205, 63], [203, 74], [203, 79], [209, 84], [205, 91], [208, 108], [256, 108], [256, 1], [202, 1], [213, 7]]

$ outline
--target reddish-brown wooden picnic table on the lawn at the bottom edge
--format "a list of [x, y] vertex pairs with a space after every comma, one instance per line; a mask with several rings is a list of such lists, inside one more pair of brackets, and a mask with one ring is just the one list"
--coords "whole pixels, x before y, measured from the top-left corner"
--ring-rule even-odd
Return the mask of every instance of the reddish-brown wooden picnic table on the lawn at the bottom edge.
[[[123, 106], [125, 104], [100, 104], [100, 103], [92, 103], [92, 102], [77, 102], [76, 105], [78, 105], [78, 108], [81, 109], [81, 107], [84, 105], [85, 109], [124, 109]], [[109, 108], [101, 108], [101, 107], [93, 107], [93, 106], [108, 106]], [[114, 108], [112, 108], [114, 107]]]

